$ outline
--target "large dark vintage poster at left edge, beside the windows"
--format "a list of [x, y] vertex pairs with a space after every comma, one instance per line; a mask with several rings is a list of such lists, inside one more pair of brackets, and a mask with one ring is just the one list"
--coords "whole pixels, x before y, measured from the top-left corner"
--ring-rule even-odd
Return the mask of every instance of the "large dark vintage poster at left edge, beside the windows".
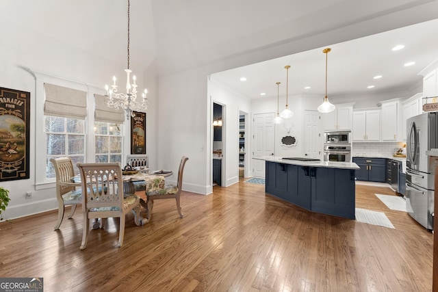
[[30, 93], [0, 88], [0, 181], [29, 178]]

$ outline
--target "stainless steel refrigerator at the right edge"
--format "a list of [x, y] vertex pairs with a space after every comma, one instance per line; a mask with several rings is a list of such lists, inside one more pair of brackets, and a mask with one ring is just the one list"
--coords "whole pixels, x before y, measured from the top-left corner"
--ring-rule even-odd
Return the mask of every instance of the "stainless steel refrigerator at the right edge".
[[426, 151], [438, 146], [437, 122], [437, 112], [407, 120], [406, 208], [428, 230], [433, 230], [435, 165]]

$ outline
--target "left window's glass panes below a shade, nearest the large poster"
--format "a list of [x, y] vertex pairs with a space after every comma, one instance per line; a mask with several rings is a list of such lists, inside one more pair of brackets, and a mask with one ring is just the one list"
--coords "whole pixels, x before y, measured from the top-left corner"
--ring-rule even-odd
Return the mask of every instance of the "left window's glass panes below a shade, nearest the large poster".
[[46, 133], [46, 178], [55, 178], [55, 170], [50, 159], [68, 156], [76, 163], [85, 161], [85, 120], [44, 116]]

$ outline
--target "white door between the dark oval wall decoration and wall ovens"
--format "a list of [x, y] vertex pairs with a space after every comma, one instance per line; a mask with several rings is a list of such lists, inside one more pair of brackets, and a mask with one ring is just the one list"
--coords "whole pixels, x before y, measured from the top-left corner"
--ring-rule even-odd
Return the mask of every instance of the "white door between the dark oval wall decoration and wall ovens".
[[320, 113], [305, 111], [305, 156], [321, 159], [322, 139], [320, 131]]

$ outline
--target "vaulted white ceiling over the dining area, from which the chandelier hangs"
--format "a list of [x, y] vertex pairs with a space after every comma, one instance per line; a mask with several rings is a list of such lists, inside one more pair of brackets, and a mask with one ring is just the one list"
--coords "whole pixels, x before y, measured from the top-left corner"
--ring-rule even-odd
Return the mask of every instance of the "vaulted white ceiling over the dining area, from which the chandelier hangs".
[[[131, 66], [153, 64], [159, 75], [207, 64], [231, 69], [427, 21], [437, 2], [131, 0]], [[10, 0], [1, 10], [8, 29], [20, 25], [126, 64], [127, 0]]]

